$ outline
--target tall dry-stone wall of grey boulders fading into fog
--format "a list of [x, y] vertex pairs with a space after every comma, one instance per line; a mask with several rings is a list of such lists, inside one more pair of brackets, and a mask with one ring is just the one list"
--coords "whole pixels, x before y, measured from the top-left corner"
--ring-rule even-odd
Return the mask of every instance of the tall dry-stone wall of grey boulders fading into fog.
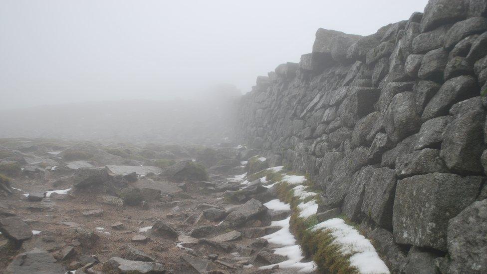
[[[257, 77], [238, 136], [308, 173], [393, 272], [487, 273], [487, 0], [430, 0], [369, 36], [318, 29]], [[477, 202], [476, 202], [477, 201]]]

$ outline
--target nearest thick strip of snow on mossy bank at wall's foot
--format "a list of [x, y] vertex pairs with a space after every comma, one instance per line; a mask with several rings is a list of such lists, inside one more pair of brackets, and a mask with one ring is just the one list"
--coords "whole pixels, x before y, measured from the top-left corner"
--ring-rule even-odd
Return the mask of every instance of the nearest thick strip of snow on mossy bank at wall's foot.
[[340, 251], [350, 257], [350, 265], [360, 273], [389, 274], [386, 264], [379, 258], [374, 246], [353, 227], [345, 224], [340, 218], [333, 218], [319, 223], [311, 230], [330, 230], [335, 238], [333, 243], [339, 245]]

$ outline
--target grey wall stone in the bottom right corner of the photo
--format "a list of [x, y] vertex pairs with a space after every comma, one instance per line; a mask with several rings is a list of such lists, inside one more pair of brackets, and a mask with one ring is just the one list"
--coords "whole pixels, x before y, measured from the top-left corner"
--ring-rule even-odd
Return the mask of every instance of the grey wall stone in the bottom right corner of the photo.
[[474, 202], [448, 223], [450, 273], [487, 272], [487, 199]]

